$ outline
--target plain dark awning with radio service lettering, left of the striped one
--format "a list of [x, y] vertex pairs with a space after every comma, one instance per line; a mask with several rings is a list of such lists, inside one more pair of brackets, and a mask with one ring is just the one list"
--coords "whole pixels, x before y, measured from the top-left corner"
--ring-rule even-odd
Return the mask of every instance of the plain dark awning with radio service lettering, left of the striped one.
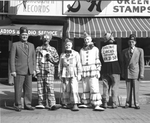
[[51, 25], [26, 25], [26, 24], [11, 24], [0, 26], [0, 35], [19, 35], [21, 26], [28, 28], [28, 34], [31, 36], [40, 36], [45, 33], [51, 33], [53, 36], [62, 37], [63, 26]]

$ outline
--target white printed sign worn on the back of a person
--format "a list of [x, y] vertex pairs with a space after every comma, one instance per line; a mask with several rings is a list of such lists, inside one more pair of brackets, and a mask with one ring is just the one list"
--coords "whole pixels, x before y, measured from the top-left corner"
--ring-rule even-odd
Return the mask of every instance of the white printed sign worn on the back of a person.
[[102, 47], [101, 53], [104, 62], [118, 61], [117, 45], [114, 44], [106, 45]]

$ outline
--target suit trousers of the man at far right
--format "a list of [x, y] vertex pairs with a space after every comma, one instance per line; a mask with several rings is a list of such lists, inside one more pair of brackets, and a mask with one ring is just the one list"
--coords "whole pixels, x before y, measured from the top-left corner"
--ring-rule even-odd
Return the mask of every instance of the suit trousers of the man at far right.
[[137, 79], [127, 79], [127, 100], [126, 103], [129, 106], [132, 106], [132, 91], [133, 91], [133, 99], [134, 105], [139, 106], [139, 81]]

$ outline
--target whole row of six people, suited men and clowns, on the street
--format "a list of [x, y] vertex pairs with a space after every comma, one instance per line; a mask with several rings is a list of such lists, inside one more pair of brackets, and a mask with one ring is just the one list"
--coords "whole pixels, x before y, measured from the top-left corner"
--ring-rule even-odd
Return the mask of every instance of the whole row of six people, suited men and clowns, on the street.
[[[134, 105], [140, 109], [138, 102], [139, 81], [144, 77], [144, 53], [135, 47], [136, 37], [129, 37], [129, 48], [121, 53], [112, 33], [104, 35], [104, 45], [99, 49], [94, 46], [92, 38], [84, 32], [84, 46], [80, 52], [73, 50], [73, 42], [65, 39], [65, 51], [60, 57], [56, 49], [49, 45], [51, 34], [42, 36], [43, 44], [36, 50], [29, 43], [28, 30], [20, 28], [20, 41], [11, 48], [10, 67], [14, 76], [15, 109], [21, 111], [23, 89], [24, 109], [34, 110], [32, 101], [32, 76], [37, 77], [38, 105], [36, 108], [56, 110], [54, 94], [55, 64], [58, 64], [58, 76], [61, 80], [61, 104], [64, 108], [79, 111], [80, 108], [93, 108], [104, 111], [112, 96], [112, 108], [117, 108], [117, 95], [120, 76], [126, 80], [127, 100], [125, 108], [132, 107], [132, 90]], [[130, 51], [132, 49], [132, 54]], [[102, 77], [103, 95], [101, 97], [99, 79]], [[82, 81], [83, 93], [80, 96], [78, 82]]]

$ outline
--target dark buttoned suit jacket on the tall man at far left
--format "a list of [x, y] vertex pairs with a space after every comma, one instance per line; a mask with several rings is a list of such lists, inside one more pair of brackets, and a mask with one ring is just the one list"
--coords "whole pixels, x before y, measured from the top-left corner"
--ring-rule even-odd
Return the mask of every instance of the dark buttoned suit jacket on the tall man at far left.
[[10, 53], [10, 69], [20, 75], [33, 74], [35, 70], [35, 48], [28, 42], [28, 52], [21, 41], [12, 44]]

